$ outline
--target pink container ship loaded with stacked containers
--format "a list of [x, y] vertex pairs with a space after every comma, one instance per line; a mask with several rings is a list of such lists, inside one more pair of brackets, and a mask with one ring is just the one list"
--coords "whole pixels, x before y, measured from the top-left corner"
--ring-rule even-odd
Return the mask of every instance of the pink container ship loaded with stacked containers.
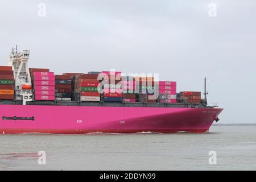
[[[206, 86], [202, 99], [201, 92], [177, 93], [178, 85], [174, 81], [157, 82], [153, 78], [142, 78], [154, 86], [147, 88], [147, 85], [142, 85], [134, 89], [133, 85], [135, 82], [138, 85], [140, 80], [123, 76], [123, 88], [113, 90], [114, 93], [104, 93], [109, 88], [101, 84], [101, 88], [96, 87], [98, 75], [111, 75], [113, 79], [121, 72], [70, 73], [70, 80], [65, 73], [63, 80], [61, 76], [55, 79], [49, 69], [28, 69], [29, 55], [29, 51], [10, 54], [9, 65], [14, 71], [15, 89], [13, 97], [0, 94], [0, 134], [204, 133], [214, 121], [219, 120], [218, 115], [223, 110], [207, 106]], [[0, 80], [0, 85], [10, 83]], [[143, 92], [144, 88], [146, 92]], [[148, 94], [147, 89], [154, 89], [154, 94]], [[157, 97], [151, 98], [152, 95]]]

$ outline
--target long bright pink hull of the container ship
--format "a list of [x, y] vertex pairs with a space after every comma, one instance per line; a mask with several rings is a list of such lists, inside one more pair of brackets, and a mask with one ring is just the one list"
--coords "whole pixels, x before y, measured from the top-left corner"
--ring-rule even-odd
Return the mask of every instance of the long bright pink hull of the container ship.
[[[220, 108], [0, 105], [0, 133], [204, 133]], [[9, 120], [2, 117], [34, 117]]]

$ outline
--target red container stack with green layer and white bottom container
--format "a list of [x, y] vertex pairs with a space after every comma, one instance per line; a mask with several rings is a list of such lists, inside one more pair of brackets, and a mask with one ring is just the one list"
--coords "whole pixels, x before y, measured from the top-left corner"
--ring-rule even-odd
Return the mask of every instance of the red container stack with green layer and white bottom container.
[[100, 90], [98, 89], [98, 75], [77, 74], [75, 90], [80, 93], [80, 101], [100, 101]]

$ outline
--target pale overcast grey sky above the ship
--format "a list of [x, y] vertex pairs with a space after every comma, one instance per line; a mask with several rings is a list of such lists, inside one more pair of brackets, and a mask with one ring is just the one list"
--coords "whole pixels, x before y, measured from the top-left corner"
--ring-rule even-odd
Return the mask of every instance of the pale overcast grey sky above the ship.
[[0, 7], [0, 65], [18, 44], [30, 49], [30, 67], [55, 73], [159, 73], [178, 91], [202, 92], [207, 77], [209, 104], [225, 109], [220, 123], [256, 123], [255, 0], [1, 0]]

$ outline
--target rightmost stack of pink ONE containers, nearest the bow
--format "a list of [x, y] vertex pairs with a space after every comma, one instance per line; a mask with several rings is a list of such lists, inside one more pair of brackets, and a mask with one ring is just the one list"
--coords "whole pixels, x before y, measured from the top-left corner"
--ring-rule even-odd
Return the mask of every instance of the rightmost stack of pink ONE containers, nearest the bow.
[[177, 102], [177, 84], [175, 81], [159, 81], [159, 102], [176, 103]]

